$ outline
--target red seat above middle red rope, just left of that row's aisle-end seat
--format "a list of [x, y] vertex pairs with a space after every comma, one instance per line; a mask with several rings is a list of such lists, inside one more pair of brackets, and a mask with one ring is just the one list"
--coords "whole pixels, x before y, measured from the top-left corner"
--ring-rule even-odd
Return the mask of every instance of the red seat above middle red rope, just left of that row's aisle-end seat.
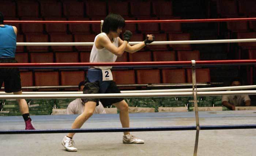
[[153, 61], [176, 61], [174, 51], [154, 51]]

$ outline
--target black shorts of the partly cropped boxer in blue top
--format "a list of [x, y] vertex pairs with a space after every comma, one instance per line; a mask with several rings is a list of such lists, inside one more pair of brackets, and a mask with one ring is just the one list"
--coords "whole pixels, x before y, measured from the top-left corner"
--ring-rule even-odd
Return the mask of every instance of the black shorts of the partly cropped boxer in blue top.
[[[0, 63], [17, 63], [15, 58], [0, 58]], [[0, 68], [0, 86], [7, 93], [21, 91], [19, 68]]]

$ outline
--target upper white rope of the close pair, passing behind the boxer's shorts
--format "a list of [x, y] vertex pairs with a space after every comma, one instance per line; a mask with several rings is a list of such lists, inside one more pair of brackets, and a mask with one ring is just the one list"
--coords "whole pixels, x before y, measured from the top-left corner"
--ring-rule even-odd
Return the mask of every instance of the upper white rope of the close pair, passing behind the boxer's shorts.
[[[243, 85], [233, 87], [211, 87], [211, 88], [197, 88], [197, 92], [202, 91], [225, 91], [225, 90], [245, 90], [254, 89], [256, 85]], [[192, 88], [188, 89], [172, 89], [172, 90], [135, 90], [135, 91], [121, 91], [121, 93], [159, 93], [159, 92], [192, 92]], [[41, 95], [41, 94], [83, 94], [83, 92], [22, 92], [23, 95]], [[12, 93], [0, 92], [0, 95], [12, 95]]]

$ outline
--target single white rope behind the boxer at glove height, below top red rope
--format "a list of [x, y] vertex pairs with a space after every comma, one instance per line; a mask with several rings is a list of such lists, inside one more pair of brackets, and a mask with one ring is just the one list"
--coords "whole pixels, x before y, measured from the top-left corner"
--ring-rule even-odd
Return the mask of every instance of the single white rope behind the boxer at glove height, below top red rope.
[[[236, 43], [256, 42], [252, 39], [216, 39], [216, 40], [194, 40], [194, 41], [155, 41], [150, 45], [178, 45], [178, 44], [204, 44], [204, 43]], [[94, 42], [18, 42], [17, 46], [92, 46]], [[129, 45], [136, 45], [141, 42], [129, 42]]]

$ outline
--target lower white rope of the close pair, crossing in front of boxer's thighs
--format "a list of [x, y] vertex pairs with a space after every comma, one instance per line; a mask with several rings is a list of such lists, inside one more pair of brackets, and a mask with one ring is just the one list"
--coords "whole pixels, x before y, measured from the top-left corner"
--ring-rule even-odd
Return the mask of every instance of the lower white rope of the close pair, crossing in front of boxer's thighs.
[[[197, 92], [197, 96], [256, 95], [256, 91]], [[193, 92], [172, 93], [119, 93], [119, 94], [49, 94], [49, 95], [0, 95], [0, 99], [73, 99], [73, 98], [144, 98], [193, 96]]]

